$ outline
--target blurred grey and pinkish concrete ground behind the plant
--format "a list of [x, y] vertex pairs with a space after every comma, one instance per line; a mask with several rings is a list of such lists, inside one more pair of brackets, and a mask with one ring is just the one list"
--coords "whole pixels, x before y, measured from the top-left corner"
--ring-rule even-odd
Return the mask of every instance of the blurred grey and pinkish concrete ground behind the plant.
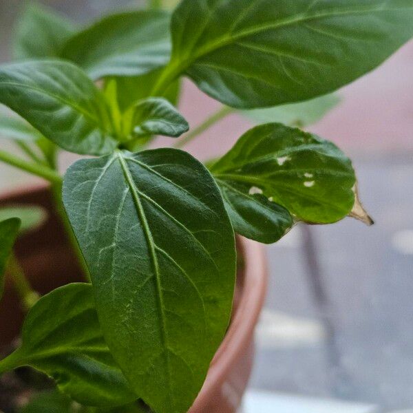
[[[11, 33], [17, 3], [0, 1], [2, 40]], [[72, 16], [84, 21], [115, 2], [49, 3], [72, 8]], [[0, 62], [7, 59], [0, 49]], [[372, 403], [383, 412], [413, 408], [412, 73], [410, 43], [343, 89], [343, 103], [312, 128], [352, 156], [362, 200], [377, 223], [367, 228], [348, 219], [313, 227], [310, 234], [297, 228], [267, 247], [271, 282], [251, 389]], [[191, 126], [215, 107], [185, 85], [182, 112]], [[222, 153], [248, 126], [231, 116], [188, 149], [203, 158]], [[73, 159], [63, 156], [63, 169]], [[1, 191], [34, 181], [0, 165]], [[317, 249], [313, 275], [308, 242]], [[315, 294], [320, 288], [323, 300]]]

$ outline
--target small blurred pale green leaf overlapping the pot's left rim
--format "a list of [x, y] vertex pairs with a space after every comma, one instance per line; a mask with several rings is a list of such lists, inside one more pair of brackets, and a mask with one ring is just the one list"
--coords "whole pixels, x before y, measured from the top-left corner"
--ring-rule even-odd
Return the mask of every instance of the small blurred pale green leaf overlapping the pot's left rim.
[[36, 205], [16, 205], [0, 208], [0, 221], [10, 218], [19, 218], [21, 220], [19, 234], [22, 234], [39, 228], [47, 219], [47, 212]]

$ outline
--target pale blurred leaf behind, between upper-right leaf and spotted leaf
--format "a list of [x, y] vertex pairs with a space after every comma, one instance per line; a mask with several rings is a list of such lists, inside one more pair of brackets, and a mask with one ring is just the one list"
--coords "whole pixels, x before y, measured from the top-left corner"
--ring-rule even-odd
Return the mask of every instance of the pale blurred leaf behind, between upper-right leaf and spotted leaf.
[[262, 123], [284, 123], [289, 126], [306, 127], [317, 123], [340, 102], [337, 94], [328, 94], [306, 100], [265, 109], [243, 110], [241, 113], [257, 125]]

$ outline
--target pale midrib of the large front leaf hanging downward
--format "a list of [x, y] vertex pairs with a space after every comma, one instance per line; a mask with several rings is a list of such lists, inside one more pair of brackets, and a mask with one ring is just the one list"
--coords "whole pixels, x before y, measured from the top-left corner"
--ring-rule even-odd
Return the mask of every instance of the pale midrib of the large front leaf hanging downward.
[[142, 224], [142, 229], [145, 233], [145, 237], [147, 240], [147, 246], [149, 248], [150, 255], [151, 255], [151, 262], [152, 262], [153, 271], [155, 273], [155, 279], [156, 279], [156, 290], [157, 290], [156, 298], [158, 301], [160, 319], [162, 320], [160, 324], [162, 346], [165, 349], [164, 354], [165, 354], [165, 361], [167, 363], [167, 377], [168, 377], [168, 387], [169, 387], [169, 392], [167, 396], [168, 396], [168, 399], [172, 401], [171, 399], [172, 399], [173, 392], [172, 392], [172, 386], [171, 386], [171, 366], [169, 363], [168, 335], [167, 335], [167, 326], [166, 326], [166, 321], [165, 321], [166, 317], [165, 317], [165, 312], [164, 312], [165, 306], [163, 303], [162, 285], [160, 283], [159, 263], [158, 263], [158, 257], [156, 256], [156, 244], [153, 240], [151, 229], [149, 228], [149, 223], [147, 221], [145, 211], [142, 207], [142, 202], [140, 201], [140, 195], [139, 195], [138, 189], [136, 188], [134, 184], [134, 180], [131, 177], [131, 173], [129, 171], [129, 168], [127, 167], [127, 163], [125, 162], [125, 159], [123, 158], [123, 154], [120, 151], [117, 152], [117, 156], [120, 162], [120, 167], [123, 170], [123, 174], [125, 176], [127, 186], [129, 187], [129, 190], [131, 191], [131, 195], [134, 200], [136, 212], [138, 213], [138, 217]]

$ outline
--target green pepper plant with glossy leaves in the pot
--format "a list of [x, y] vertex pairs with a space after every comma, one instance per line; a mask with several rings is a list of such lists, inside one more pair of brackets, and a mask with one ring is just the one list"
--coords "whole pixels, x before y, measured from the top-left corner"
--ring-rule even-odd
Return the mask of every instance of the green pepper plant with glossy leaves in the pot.
[[[0, 67], [0, 103], [19, 115], [1, 132], [30, 158], [0, 160], [51, 183], [87, 277], [32, 305], [0, 373], [32, 366], [85, 411], [189, 409], [229, 326], [234, 233], [271, 244], [297, 222], [370, 222], [352, 163], [299, 114], [413, 36], [412, 0], [160, 3], [86, 28], [29, 6]], [[148, 149], [189, 129], [182, 77], [222, 109], [175, 148]], [[267, 123], [207, 166], [178, 149], [233, 112]], [[63, 178], [61, 149], [86, 156]], [[1, 273], [18, 228], [0, 224]]]

